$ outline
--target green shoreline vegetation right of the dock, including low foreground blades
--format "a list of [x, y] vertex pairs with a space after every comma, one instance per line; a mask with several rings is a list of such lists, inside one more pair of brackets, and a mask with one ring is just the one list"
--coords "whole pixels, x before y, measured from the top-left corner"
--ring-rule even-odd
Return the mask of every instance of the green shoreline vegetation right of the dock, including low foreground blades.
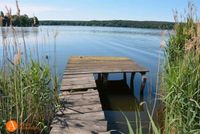
[[[150, 119], [148, 134], [200, 133], [200, 23], [195, 5], [189, 2], [185, 18], [176, 12], [174, 19], [175, 34], [160, 44], [165, 57], [158, 75], [157, 109], [151, 114], [146, 103], [141, 103], [147, 107]], [[162, 36], [165, 34], [163, 31]], [[130, 134], [143, 133], [139, 115], [136, 130], [125, 117]]]

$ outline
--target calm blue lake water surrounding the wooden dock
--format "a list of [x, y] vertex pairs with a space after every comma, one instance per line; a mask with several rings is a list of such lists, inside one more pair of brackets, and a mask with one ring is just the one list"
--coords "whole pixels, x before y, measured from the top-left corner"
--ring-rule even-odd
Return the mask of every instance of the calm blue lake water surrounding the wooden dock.
[[[7, 43], [12, 43], [13, 33], [9, 28], [2, 28], [6, 33], [3, 38]], [[56, 61], [57, 73], [62, 78], [66, 63], [70, 56], [123, 56], [128, 57], [138, 64], [149, 69], [148, 81], [145, 87], [144, 101], [147, 102], [149, 110], [153, 107], [155, 98], [156, 76], [158, 72], [159, 59], [163, 59], [163, 51], [160, 48], [161, 30], [136, 29], [136, 28], [113, 28], [113, 27], [82, 27], [82, 26], [40, 26], [38, 28], [16, 28], [17, 42], [23, 49], [23, 36], [27, 48], [33, 57], [44, 59], [48, 56], [49, 63], [54, 68]], [[0, 33], [2, 36], [2, 32]], [[2, 42], [2, 38], [0, 38]], [[36, 52], [37, 53], [36, 54]], [[2, 57], [2, 43], [0, 43], [0, 57]], [[12, 56], [10, 56], [12, 57]], [[109, 75], [109, 80], [121, 79], [121, 74]], [[135, 124], [135, 106], [140, 103], [140, 78], [135, 78], [134, 95], [109, 95], [108, 102], [116, 108], [105, 108], [106, 119], [110, 130], [119, 130], [127, 133], [127, 124], [122, 112], [128, 117], [131, 124]], [[130, 75], [128, 75], [128, 81]], [[130, 84], [130, 83], [128, 83]], [[148, 116], [146, 107], [140, 111], [140, 118], [144, 131], [148, 128]]]

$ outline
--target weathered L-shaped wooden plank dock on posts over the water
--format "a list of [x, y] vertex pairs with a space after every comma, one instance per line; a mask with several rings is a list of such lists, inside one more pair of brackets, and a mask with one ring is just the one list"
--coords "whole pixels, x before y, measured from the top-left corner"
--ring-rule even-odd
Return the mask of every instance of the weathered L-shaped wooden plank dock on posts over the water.
[[143, 94], [147, 69], [125, 57], [76, 56], [68, 61], [64, 71], [60, 101], [63, 108], [52, 121], [50, 134], [109, 134], [94, 74], [105, 84], [109, 73], [131, 73], [131, 88], [135, 73], [141, 73]]

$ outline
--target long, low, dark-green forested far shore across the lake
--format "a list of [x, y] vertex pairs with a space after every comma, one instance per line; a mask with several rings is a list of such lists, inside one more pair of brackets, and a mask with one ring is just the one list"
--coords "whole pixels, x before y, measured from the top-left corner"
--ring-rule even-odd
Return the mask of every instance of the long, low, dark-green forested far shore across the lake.
[[40, 20], [40, 25], [63, 26], [101, 26], [101, 27], [129, 27], [151, 29], [173, 29], [174, 22], [165, 21], [131, 21], [131, 20], [92, 20], [92, 21], [65, 21], [65, 20]]

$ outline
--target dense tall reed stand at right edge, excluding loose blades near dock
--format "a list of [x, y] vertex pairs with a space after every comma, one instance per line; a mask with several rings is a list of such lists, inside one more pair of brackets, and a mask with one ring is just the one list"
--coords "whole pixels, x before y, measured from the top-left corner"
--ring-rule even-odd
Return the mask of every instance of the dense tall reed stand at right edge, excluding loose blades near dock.
[[161, 85], [164, 133], [200, 131], [200, 25], [192, 3], [188, 9], [184, 22], [176, 22], [175, 35], [170, 37], [165, 50]]

